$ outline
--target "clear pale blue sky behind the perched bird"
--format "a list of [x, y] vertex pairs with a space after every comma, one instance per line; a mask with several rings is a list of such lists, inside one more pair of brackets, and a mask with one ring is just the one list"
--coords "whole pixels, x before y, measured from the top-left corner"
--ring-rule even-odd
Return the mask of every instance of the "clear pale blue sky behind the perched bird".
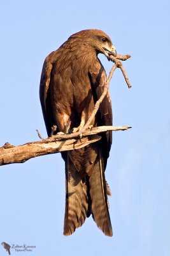
[[[110, 84], [115, 125], [106, 170], [113, 237], [90, 217], [64, 237], [65, 177], [59, 154], [1, 166], [0, 242], [34, 245], [27, 255], [170, 255], [169, 1], [1, 1], [0, 145], [46, 136], [39, 79], [47, 54], [73, 33], [102, 29], [121, 54]], [[109, 73], [113, 63], [100, 55]], [[0, 244], [0, 254], [7, 255]], [[11, 249], [11, 255], [20, 255]], [[23, 254], [23, 252], [22, 252]]]

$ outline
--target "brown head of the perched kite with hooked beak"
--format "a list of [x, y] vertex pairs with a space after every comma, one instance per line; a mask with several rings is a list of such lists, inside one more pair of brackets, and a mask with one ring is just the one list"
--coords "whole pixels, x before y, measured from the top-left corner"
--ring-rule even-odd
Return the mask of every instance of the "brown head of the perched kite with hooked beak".
[[82, 30], [70, 36], [70, 39], [77, 39], [85, 47], [94, 49], [96, 53], [103, 53], [106, 57], [108, 53], [117, 56], [115, 46], [112, 44], [111, 39], [106, 33], [98, 29]]

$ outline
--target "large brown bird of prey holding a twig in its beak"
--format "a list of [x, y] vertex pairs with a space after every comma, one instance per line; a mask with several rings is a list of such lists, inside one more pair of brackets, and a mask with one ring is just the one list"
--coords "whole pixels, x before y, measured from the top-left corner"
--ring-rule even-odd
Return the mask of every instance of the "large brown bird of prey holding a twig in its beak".
[[[40, 100], [48, 136], [80, 131], [103, 93], [106, 72], [97, 54], [116, 56], [106, 33], [98, 29], [71, 35], [45, 59], [40, 81]], [[112, 125], [110, 94], [92, 120], [93, 127]], [[76, 128], [76, 129], [74, 129]], [[111, 195], [104, 171], [111, 148], [111, 132], [87, 147], [62, 152], [66, 169], [64, 235], [71, 235], [92, 214], [106, 236], [112, 236], [107, 195]]]

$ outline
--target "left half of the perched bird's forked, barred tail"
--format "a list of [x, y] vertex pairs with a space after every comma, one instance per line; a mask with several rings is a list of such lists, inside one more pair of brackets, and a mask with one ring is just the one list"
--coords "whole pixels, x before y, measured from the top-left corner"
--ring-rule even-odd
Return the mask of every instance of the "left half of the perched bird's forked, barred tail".
[[87, 186], [82, 174], [76, 170], [67, 154], [66, 163], [66, 209], [64, 217], [64, 235], [73, 234], [81, 227], [88, 215]]

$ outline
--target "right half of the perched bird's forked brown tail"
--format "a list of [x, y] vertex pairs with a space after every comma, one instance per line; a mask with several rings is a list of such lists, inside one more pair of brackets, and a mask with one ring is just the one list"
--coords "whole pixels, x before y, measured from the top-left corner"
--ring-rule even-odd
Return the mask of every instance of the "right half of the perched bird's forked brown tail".
[[99, 150], [89, 179], [92, 216], [97, 227], [99, 227], [106, 236], [113, 236], [106, 195], [108, 186], [106, 186], [106, 184], [103, 157]]

